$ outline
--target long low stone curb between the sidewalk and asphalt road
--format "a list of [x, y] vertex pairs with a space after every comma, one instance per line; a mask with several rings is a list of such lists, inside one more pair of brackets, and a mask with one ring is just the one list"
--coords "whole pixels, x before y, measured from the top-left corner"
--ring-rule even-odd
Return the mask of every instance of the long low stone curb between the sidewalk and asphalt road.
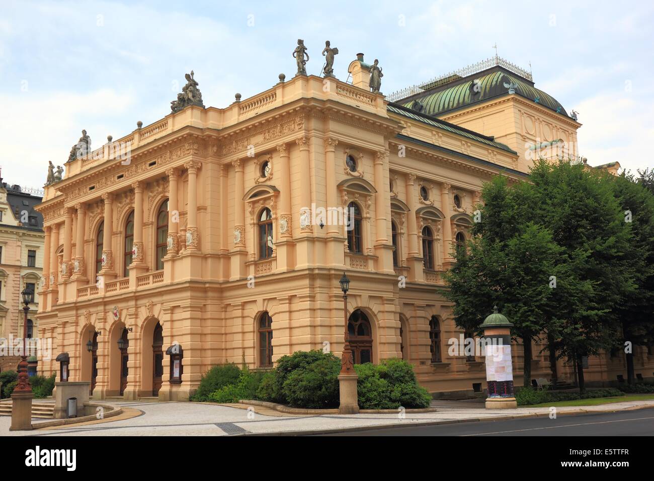
[[[630, 406], [625, 409], [613, 409], [606, 411], [564, 411], [557, 412], [557, 416], [587, 416], [590, 414], [607, 414], [611, 412], [621, 412], [621, 411], [635, 411], [641, 409], [651, 409], [654, 408], [654, 404], [649, 404], [645, 406]], [[458, 424], [458, 423], [478, 423], [483, 421], [504, 421], [506, 419], [521, 419], [521, 418], [545, 418], [549, 416], [549, 413], [534, 413], [534, 414], [515, 414], [512, 416], [494, 416], [492, 418], [469, 418], [469, 419], [447, 419], [445, 421], [427, 421], [424, 423], [420, 422], [411, 422], [411, 423], [402, 423], [402, 424], [386, 424], [386, 425], [371, 425], [371, 426], [354, 426], [354, 427], [339, 427], [334, 429], [310, 429], [307, 431], [276, 431], [272, 433], [240, 433], [232, 436], [312, 436], [312, 435], [324, 435], [324, 434], [336, 434], [336, 433], [348, 433], [356, 431], [377, 431], [380, 429], [392, 429], [400, 427], [421, 427], [421, 426], [437, 426], [437, 425], [446, 425], [446, 424]]]

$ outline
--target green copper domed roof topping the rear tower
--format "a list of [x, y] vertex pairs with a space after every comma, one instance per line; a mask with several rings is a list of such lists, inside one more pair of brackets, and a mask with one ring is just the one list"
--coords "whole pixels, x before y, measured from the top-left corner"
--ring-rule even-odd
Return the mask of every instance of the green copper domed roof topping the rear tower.
[[543, 107], [553, 111], [558, 110], [561, 115], [568, 116], [557, 99], [535, 88], [529, 80], [499, 66], [454, 80], [427, 92], [421, 92], [410, 98], [402, 99], [398, 103], [415, 109], [417, 107], [415, 102], [419, 101], [422, 105], [422, 113], [440, 116], [475, 103], [509, 95], [509, 88], [504, 86], [505, 83], [513, 85], [515, 94], [530, 101], [538, 99], [538, 103]]

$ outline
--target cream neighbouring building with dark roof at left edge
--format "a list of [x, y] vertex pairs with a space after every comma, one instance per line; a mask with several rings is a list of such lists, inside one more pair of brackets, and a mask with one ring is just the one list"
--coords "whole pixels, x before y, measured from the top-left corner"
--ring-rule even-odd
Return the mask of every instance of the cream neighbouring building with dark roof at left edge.
[[[28, 336], [36, 336], [39, 286], [43, 276], [43, 217], [35, 211], [43, 191], [9, 185], [0, 177], [0, 338], [23, 337], [21, 292], [30, 287], [34, 302], [27, 320]], [[0, 357], [0, 370], [16, 369], [20, 358]]]

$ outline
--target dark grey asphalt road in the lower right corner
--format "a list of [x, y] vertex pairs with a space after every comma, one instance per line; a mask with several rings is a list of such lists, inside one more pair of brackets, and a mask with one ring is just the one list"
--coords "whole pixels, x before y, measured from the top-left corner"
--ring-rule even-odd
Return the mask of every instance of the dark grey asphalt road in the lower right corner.
[[322, 436], [654, 436], [654, 409], [350, 431]]

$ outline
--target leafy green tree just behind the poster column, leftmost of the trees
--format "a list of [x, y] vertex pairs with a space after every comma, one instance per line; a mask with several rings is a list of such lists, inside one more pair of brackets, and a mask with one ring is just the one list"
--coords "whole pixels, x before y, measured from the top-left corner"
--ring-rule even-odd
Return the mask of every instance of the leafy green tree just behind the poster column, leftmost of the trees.
[[526, 221], [505, 178], [485, 185], [482, 198], [482, 222], [473, 227], [467, 249], [456, 249], [443, 295], [455, 304], [456, 325], [467, 331], [479, 329], [494, 305], [500, 308], [514, 324], [512, 336], [522, 341], [523, 383], [530, 385], [532, 340], [556, 322], [550, 276], [566, 277], [563, 249], [545, 228]]

